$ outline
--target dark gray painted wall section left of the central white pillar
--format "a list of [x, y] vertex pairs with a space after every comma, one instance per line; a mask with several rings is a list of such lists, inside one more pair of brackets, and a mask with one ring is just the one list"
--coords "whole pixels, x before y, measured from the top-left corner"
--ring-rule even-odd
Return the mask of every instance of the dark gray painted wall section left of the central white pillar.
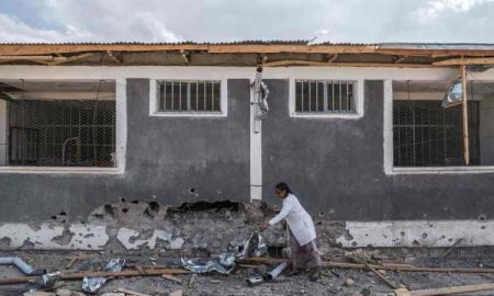
[[[86, 219], [121, 197], [183, 202], [249, 200], [249, 81], [228, 80], [227, 117], [149, 117], [149, 80], [127, 80], [123, 175], [0, 174], [0, 221], [65, 212]], [[193, 189], [193, 192], [191, 192]]]

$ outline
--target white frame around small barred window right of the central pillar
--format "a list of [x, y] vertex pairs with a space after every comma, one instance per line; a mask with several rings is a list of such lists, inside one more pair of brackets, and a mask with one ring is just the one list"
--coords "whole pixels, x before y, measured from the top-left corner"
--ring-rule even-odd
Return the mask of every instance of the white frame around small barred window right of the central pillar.
[[[353, 104], [355, 112], [352, 113], [336, 113], [336, 112], [313, 112], [313, 113], [300, 113], [295, 111], [296, 104], [296, 81], [297, 80], [307, 80], [307, 81], [345, 81], [352, 82], [353, 84]], [[345, 78], [290, 78], [290, 93], [289, 93], [289, 112], [290, 117], [299, 117], [299, 118], [343, 118], [343, 119], [359, 119], [363, 117], [363, 79], [345, 79]], [[269, 99], [268, 99], [269, 102]]]

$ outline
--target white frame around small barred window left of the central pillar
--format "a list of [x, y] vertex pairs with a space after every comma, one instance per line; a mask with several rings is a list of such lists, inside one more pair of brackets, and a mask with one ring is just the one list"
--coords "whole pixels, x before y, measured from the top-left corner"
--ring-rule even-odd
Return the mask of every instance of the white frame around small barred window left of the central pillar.
[[[158, 81], [220, 81], [220, 112], [215, 111], [158, 111]], [[193, 78], [159, 78], [149, 80], [149, 116], [158, 117], [226, 117], [228, 116], [227, 103], [227, 79], [211, 77], [193, 77]]]

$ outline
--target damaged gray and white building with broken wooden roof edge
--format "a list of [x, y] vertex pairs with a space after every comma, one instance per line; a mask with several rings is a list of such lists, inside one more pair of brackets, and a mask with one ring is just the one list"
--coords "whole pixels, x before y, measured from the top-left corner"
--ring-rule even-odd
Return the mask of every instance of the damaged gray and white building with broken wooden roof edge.
[[215, 206], [193, 225], [220, 248], [280, 181], [323, 250], [493, 246], [493, 64], [491, 44], [1, 44], [0, 248], [198, 247], [173, 213]]

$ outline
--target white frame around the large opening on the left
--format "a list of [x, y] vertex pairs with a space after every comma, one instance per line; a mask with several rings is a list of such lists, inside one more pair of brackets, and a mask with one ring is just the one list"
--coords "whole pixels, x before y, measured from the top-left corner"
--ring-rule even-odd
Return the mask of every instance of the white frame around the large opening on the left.
[[[49, 76], [43, 77], [43, 73], [33, 72], [34, 77], [25, 77], [26, 80], [35, 79], [49, 79], [53, 81], [64, 81], [72, 79], [85, 80], [83, 77], [70, 77], [64, 78], [64, 73], [60, 77], [52, 78]], [[3, 78], [0, 79], [12, 79]], [[94, 78], [86, 78], [93, 80]], [[125, 152], [127, 141], [127, 104], [126, 104], [126, 79], [115, 78], [100, 78], [105, 80], [113, 80], [115, 82], [115, 167], [32, 167], [32, 166], [0, 166], [0, 173], [21, 173], [21, 174], [123, 174], [125, 172]], [[7, 113], [0, 112], [5, 115], [0, 117], [0, 121], [7, 122]], [[5, 148], [7, 149], [7, 148]]]

